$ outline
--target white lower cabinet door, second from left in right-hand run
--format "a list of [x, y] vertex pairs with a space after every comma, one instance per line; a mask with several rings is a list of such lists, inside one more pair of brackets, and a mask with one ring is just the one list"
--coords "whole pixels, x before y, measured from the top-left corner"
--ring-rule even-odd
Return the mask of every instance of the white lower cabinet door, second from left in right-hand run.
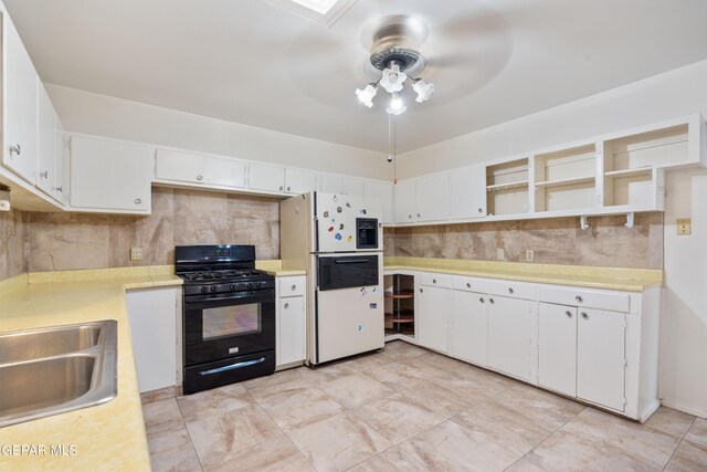
[[488, 295], [452, 291], [450, 354], [479, 366], [488, 359]]

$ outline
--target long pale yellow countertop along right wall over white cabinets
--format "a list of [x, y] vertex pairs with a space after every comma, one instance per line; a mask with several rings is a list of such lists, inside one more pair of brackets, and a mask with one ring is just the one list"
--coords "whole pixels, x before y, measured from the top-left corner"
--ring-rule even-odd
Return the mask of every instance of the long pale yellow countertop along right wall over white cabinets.
[[593, 268], [461, 259], [384, 258], [386, 271], [422, 271], [590, 289], [642, 292], [663, 283], [657, 269]]

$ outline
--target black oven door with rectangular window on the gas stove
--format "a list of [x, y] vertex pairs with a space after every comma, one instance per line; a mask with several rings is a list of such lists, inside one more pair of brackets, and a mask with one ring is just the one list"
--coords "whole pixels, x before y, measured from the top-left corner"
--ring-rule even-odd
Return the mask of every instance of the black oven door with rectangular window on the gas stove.
[[275, 348], [275, 291], [184, 297], [184, 366]]

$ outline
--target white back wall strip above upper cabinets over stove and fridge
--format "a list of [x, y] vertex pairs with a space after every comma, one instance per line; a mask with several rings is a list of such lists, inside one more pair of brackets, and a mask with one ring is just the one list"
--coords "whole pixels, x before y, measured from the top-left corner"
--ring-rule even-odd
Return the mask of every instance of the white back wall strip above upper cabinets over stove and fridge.
[[388, 179], [387, 155], [271, 129], [209, 118], [45, 84], [70, 132], [161, 144], [197, 151]]

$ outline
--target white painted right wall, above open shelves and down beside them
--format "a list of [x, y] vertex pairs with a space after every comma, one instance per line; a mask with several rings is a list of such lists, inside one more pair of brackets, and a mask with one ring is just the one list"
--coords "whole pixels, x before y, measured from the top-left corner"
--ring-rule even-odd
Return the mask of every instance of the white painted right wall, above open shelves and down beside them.
[[[689, 115], [707, 116], [707, 61], [398, 157], [414, 177]], [[659, 390], [665, 405], [707, 417], [707, 171], [671, 171]], [[675, 219], [692, 218], [692, 235]]]

